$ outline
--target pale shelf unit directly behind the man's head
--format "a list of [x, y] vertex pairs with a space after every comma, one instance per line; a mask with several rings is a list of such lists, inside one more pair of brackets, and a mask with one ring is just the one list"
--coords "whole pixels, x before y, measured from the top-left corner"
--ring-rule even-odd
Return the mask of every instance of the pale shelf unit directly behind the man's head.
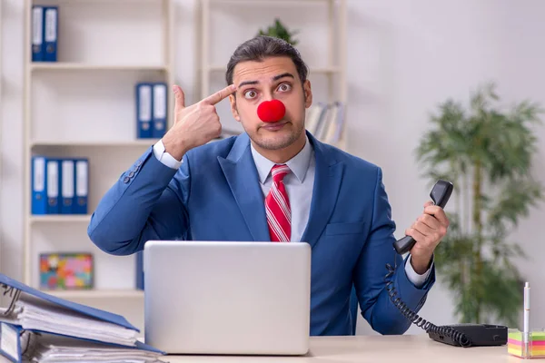
[[[226, 65], [235, 47], [278, 17], [288, 29], [298, 31], [296, 47], [309, 66], [312, 103], [338, 101], [344, 105], [342, 134], [334, 145], [346, 150], [346, 0], [201, 0], [200, 6], [197, 64], [201, 98], [223, 88]], [[229, 21], [232, 24], [226, 25]], [[219, 29], [214, 29], [216, 24], [221, 24]], [[229, 32], [224, 32], [225, 28]], [[326, 48], [325, 54], [317, 52], [320, 48]], [[223, 127], [243, 131], [233, 119], [228, 100], [218, 103], [218, 113]]]

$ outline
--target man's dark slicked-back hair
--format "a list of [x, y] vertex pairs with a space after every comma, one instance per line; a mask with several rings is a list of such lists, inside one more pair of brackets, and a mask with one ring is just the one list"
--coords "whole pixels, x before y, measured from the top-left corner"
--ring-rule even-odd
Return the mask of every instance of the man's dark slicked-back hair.
[[297, 68], [297, 74], [299, 74], [301, 82], [306, 81], [309, 70], [302, 61], [299, 51], [285, 40], [267, 35], [255, 36], [235, 49], [227, 64], [225, 81], [227, 81], [227, 84], [233, 83], [233, 70], [236, 64], [247, 61], [261, 62], [265, 58], [273, 56], [290, 57]]

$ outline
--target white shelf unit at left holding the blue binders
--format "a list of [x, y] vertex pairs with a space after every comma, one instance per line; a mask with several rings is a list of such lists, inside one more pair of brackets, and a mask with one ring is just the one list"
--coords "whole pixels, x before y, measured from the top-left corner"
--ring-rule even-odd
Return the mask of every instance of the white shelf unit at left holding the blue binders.
[[[32, 62], [33, 5], [58, 6], [57, 62]], [[135, 256], [106, 254], [86, 231], [104, 193], [157, 141], [136, 138], [135, 83], [167, 83], [172, 125], [173, 13], [173, 0], [25, 0], [24, 282], [39, 288], [40, 252], [92, 252], [94, 289], [46, 292], [121, 313], [141, 329]], [[89, 214], [32, 214], [35, 154], [88, 158]]]

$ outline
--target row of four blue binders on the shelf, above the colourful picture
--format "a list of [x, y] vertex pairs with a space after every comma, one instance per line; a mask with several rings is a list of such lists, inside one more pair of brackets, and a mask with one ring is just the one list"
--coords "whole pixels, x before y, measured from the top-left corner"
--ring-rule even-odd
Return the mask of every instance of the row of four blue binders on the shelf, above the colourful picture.
[[89, 161], [35, 156], [32, 214], [87, 214]]

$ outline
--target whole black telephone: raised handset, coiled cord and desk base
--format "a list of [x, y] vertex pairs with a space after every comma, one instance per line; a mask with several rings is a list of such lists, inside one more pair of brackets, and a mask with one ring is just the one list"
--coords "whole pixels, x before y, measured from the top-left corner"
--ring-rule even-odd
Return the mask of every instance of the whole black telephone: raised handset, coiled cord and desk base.
[[[451, 182], [439, 180], [435, 183], [430, 192], [431, 200], [435, 205], [444, 208], [451, 198], [454, 186]], [[410, 251], [415, 240], [411, 236], [405, 236], [401, 240], [393, 242], [393, 248], [400, 255]], [[508, 328], [504, 326], [486, 324], [454, 324], [438, 327], [426, 319], [421, 318], [417, 313], [409, 309], [399, 297], [390, 280], [395, 272], [388, 263], [386, 264], [388, 274], [386, 275], [386, 289], [393, 305], [400, 310], [401, 314], [411, 320], [413, 324], [426, 330], [431, 339], [457, 347], [477, 346], [499, 346], [507, 344]]]

